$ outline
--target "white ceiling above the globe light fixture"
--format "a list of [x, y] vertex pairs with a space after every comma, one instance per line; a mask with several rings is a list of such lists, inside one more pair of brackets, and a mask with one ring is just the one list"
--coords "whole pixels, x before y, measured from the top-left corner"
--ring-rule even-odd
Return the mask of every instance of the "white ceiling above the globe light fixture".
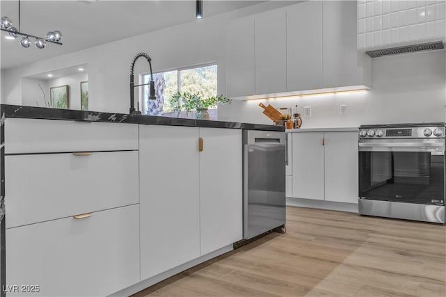
[[[203, 17], [218, 15], [263, 1], [203, 1]], [[18, 27], [18, 0], [1, 0], [1, 16], [7, 16]], [[48, 31], [63, 33], [63, 45], [49, 44], [45, 49], [34, 45], [24, 48], [16, 40], [6, 40], [1, 32], [1, 69], [16, 67], [79, 51], [107, 42], [158, 29], [200, 22], [195, 19], [195, 1], [112, 1], [63, 0], [21, 1], [22, 33], [45, 37]], [[32, 39], [31, 39], [32, 40]]]

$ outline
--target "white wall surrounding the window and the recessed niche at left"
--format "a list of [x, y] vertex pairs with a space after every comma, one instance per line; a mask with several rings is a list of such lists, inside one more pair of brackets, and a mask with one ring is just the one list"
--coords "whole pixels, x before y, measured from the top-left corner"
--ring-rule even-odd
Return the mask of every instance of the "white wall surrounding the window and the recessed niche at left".
[[[224, 68], [226, 24], [237, 17], [260, 13], [292, 3], [293, 1], [268, 1], [134, 38], [3, 70], [1, 74], [2, 103], [36, 106], [36, 100], [22, 101], [22, 77], [88, 63], [89, 109], [91, 111], [128, 113], [130, 107], [130, 63], [140, 51], [145, 51], [151, 56], [155, 72], [217, 62], [219, 65], [219, 93], [223, 93], [226, 84]], [[135, 74], [141, 72], [148, 72], [148, 63], [142, 58], [135, 65]], [[137, 76], [135, 75], [135, 77]], [[135, 98], [138, 98], [136, 92]]]

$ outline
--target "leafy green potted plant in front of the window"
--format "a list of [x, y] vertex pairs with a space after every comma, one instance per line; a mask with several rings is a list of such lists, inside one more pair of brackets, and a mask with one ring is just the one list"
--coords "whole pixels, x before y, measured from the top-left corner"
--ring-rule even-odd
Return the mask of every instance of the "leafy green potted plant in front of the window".
[[199, 93], [176, 93], [169, 99], [171, 109], [180, 115], [181, 111], [186, 111], [189, 114], [191, 111], [195, 112], [195, 118], [198, 120], [210, 120], [208, 109], [218, 104], [231, 104], [232, 99], [224, 97], [223, 95], [211, 96], [207, 98], [201, 97]]

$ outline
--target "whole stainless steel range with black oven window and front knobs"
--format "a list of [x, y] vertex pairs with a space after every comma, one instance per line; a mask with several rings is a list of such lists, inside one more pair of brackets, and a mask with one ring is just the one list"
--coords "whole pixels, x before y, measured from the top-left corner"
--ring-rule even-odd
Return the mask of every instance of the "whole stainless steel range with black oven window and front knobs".
[[445, 126], [360, 127], [360, 214], [445, 223]]

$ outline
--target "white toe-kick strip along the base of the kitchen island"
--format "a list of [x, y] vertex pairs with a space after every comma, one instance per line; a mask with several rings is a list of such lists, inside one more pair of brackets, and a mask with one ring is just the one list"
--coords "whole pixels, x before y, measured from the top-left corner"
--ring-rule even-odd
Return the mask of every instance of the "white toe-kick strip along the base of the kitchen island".
[[132, 294], [138, 293], [139, 291], [142, 291], [148, 287], [153, 286], [153, 284], [156, 284], [157, 282], [166, 280], [167, 278], [170, 278], [171, 276], [174, 276], [182, 271], [185, 271], [191, 267], [197, 266], [198, 264], [206, 262], [206, 261], [213, 259], [217, 256], [223, 255], [226, 252], [230, 252], [231, 250], [233, 250], [232, 244], [230, 244], [229, 246], [224, 246], [223, 248], [220, 248], [219, 250], [215, 250], [214, 252], [210, 252], [207, 255], [203, 255], [197, 259], [193, 259], [192, 261], [187, 262], [183, 265], [176, 266], [175, 268], [172, 268], [169, 271], [165, 271], [163, 273], [153, 276], [152, 278], [148, 278], [147, 280], [138, 282], [137, 284], [134, 284], [131, 287], [125, 288], [121, 291], [117, 291], [116, 293], [109, 295], [109, 297], [118, 297], [118, 296], [126, 297], [126, 296], [130, 296]]

